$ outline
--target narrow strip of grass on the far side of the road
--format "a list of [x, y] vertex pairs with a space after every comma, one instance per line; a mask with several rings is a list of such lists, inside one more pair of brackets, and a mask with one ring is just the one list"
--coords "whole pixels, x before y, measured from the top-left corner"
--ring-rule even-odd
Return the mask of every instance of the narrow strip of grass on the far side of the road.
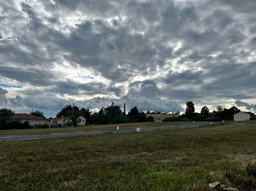
[[0, 136], [4, 135], [44, 135], [50, 133], [64, 133], [75, 131], [94, 131], [94, 130], [110, 130], [120, 128], [152, 128], [162, 125], [181, 125], [188, 122], [137, 122], [137, 123], [122, 123], [113, 125], [86, 125], [78, 127], [64, 127], [64, 128], [46, 128], [46, 129], [12, 129], [0, 130]]

